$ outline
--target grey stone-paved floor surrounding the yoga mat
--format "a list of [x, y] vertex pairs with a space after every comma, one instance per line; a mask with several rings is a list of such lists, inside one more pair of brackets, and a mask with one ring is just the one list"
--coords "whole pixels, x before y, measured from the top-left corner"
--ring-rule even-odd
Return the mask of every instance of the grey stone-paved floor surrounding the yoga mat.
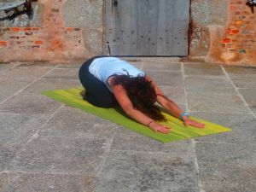
[[233, 131], [159, 143], [40, 95], [80, 86], [80, 63], [1, 64], [0, 191], [256, 191], [256, 68], [132, 63], [181, 108]]

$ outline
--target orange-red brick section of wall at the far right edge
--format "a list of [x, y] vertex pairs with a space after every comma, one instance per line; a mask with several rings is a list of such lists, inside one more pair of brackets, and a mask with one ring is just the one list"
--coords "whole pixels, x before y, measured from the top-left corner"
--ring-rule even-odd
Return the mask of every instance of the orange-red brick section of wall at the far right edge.
[[[256, 7], [255, 7], [256, 12]], [[256, 66], [256, 14], [246, 0], [230, 0], [225, 26], [210, 26], [208, 62]]]

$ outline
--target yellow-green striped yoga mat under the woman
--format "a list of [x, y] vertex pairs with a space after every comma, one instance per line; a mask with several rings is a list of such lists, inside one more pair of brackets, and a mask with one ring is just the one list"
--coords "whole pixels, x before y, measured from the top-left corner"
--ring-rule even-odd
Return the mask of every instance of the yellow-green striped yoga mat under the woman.
[[206, 120], [190, 117], [201, 123], [204, 123], [206, 127], [204, 129], [195, 128], [192, 126], [185, 127], [183, 122], [179, 119], [172, 117], [171, 115], [164, 113], [167, 121], [162, 124], [170, 125], [172, 127], [170, 134], [162, 134], [160, 132], [154, 132], [147, 126], [137, 123], [136, 121], [127, 118], [122, 110], [119, 108], [97, 108], [91, 105], [89, 102], [83, 100], [81, 93], [83, 88], [73, 88], [68, 90], [47, 90], [42, 92], [43, 95], [49, 96], [56, 101], [63, 102], [74, 108], [80, 108], [88, 113], [96, 114], [103, 119], [108, 119], [116, 124], [122, 125], [132, 131], [137, 131], [144, 136], [154, 138], [162, 143], [174, 142], [178, 140], [188, 139], [192, 137], [201, 137], [211, 134], [216, 134], [225, 131], [231, 131], [230, 128], [222, 125], [213, 124]]

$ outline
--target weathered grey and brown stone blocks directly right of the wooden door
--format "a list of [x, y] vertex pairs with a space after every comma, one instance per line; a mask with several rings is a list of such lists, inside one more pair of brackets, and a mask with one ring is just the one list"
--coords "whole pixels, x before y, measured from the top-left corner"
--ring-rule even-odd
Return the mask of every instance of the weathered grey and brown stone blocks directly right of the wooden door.
[[191, 0], [189, 55], [201, 58], [210, 47], [209, 26], [224, 26], [230, 0]]

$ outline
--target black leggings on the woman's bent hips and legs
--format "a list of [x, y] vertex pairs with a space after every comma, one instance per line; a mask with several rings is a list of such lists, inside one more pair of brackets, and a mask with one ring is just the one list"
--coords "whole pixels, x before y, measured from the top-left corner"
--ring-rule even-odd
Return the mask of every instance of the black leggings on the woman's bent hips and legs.
[[96, 58], [108, 57], [106, 55], [95, 56], [85, 61], [79, 69], [79, 79], [85, 89], [84, 100], [99, 108], [113, 108], [118, 106], [113, 94], [108, 90], [106, 84], [96, 79], [90, 72], [90, 63]]

